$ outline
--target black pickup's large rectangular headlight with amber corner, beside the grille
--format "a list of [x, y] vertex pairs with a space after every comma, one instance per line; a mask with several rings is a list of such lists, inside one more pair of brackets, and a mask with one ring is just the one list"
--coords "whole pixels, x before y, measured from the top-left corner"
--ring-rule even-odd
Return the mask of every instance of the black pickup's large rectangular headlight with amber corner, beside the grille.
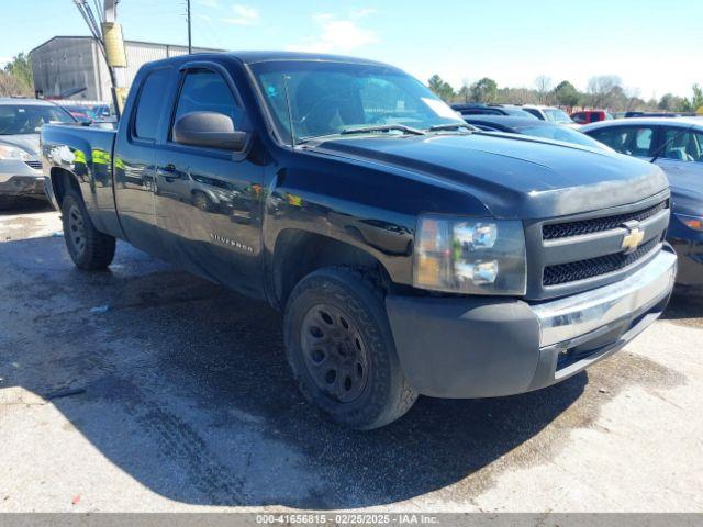
[[470, 294], [525, 294], [521, 222], [421, 216], [413, 281], [417, 288]]

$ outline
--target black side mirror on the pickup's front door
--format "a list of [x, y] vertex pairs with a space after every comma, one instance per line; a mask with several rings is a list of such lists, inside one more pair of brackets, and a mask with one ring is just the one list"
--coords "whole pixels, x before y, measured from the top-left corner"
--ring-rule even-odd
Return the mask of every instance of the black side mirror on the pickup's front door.
[[181, 145], [241, 152], [247, 133], [234, 130], [232, 119], [217, 112], [190, 112], [174, 124], [174, 141]]

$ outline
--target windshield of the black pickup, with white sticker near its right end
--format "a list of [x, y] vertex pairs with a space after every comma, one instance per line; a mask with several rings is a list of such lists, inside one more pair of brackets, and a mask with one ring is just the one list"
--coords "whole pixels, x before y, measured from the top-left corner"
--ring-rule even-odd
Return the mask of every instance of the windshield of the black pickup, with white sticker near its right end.
[[287, 143], [291, 135], [300, 144], [368, 126], [397, 125], [371, 133], [402, 135], [402, 126], [464, 124], [419, 80], [387, 66], [301, 60], [259, 63], [252, 70]]

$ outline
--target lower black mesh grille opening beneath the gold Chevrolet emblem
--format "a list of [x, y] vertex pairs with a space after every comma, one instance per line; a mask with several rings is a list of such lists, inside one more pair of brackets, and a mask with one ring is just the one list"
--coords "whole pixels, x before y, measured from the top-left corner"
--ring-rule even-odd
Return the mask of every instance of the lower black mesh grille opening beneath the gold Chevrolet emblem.
[[589, 258], [588, 260], [547, 266], [545, 267], [542, 283], [544, 285], [559, 285], [620, 271], [647, 256], [657, 248], [660, 243], [661, 238], [656, 237], [640, 245], [639, 248], [633, 253], [617, 253], [615, 255]]

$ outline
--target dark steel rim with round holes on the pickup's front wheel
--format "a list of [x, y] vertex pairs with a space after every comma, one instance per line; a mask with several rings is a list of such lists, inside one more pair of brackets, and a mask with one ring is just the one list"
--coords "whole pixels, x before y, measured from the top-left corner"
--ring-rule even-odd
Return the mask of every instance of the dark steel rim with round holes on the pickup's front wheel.
[[313, 306], [303, 318], [301, 347], [308, 371], [322, 392], [341, 403], [361, 395], [368, 380], [368, 352], [348, 315], [332, 305]]

